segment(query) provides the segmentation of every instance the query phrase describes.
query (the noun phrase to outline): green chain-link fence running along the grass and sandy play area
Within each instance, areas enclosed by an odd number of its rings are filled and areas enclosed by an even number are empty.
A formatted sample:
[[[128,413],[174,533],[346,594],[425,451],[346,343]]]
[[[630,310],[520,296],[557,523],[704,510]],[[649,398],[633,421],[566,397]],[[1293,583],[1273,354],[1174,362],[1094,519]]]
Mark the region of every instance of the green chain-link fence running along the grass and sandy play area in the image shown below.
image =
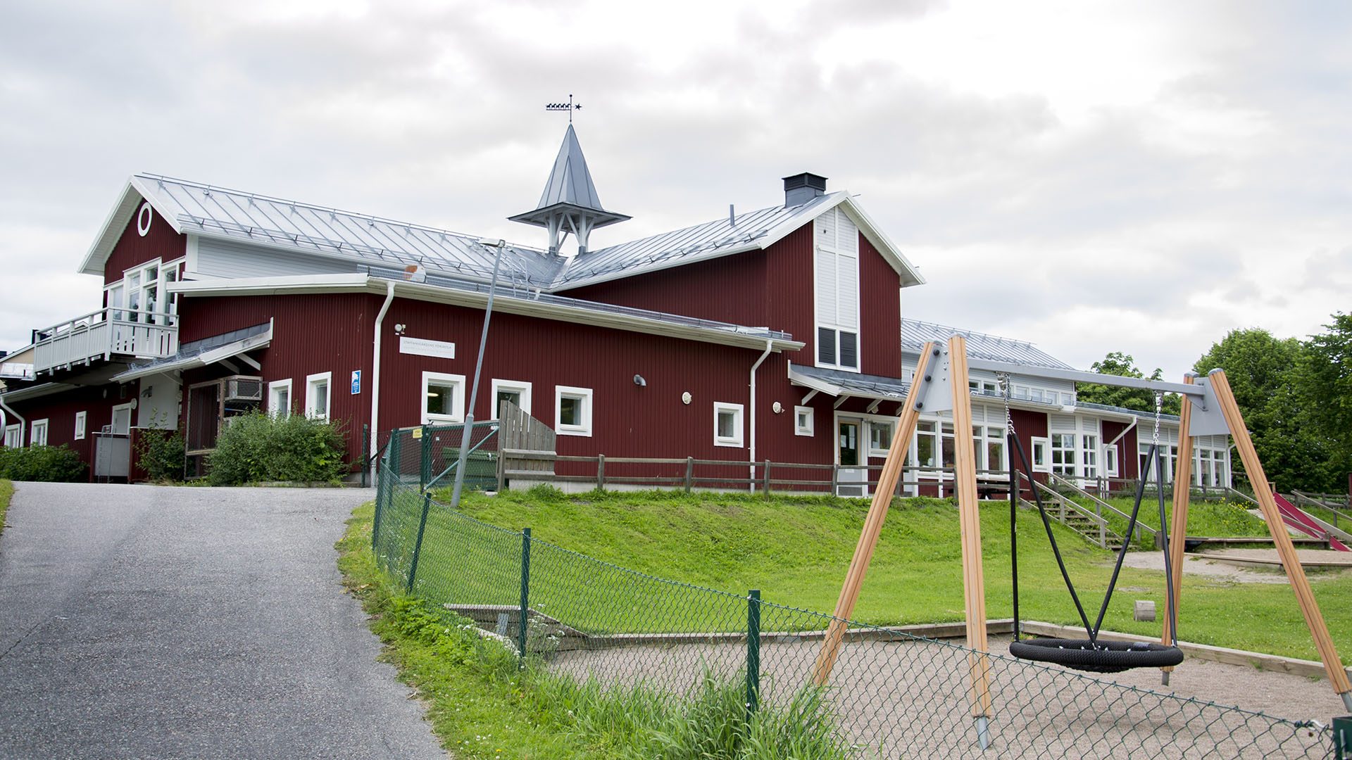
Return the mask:
[[[397,452],[396,452],[397,454]],[[397,456],[396,456],[396,460]],[[579,682],[688,696],[713,673],[746,682],[748,710],[821,695],[856,757],[1332,757],[1333,736],[1238,707],[986,655],[992,709],[977,744],[965,646],[850,623],[825,690],[814,663],[830,615],[653,577],[530,531],[476,521],[391,467],[377,488],[377,563],[411,594],[475,619]],[[526,625],[522,625],[526,621]]]

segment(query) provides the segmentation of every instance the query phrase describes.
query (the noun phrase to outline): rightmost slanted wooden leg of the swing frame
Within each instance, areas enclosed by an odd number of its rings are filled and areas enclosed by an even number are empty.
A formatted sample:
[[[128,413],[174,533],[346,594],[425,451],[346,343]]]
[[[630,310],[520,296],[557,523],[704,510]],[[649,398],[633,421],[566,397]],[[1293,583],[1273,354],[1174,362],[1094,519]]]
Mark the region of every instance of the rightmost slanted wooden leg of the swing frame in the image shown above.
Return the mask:
[[[1343,702],[1348,709],[1352,709],[1352,698],[1348,695],[1348,692],[1352,692],[1352,684],[1348,683],[1348,673],[1343,669],[1343,661],[1338,660],[1337,649],[1333,648],[1333,638],[1329,637],[1329,627],[1324,622],[1324,614],[1314,600],[1310,581],[1305,577],[1305,568],[1301,567],[1301,560],[1295,556],[1291,536],[1286,531],[1286,523],[1282,522],[1282,513],[1276,508],[1276,499],[1272,498],[1267,475],[1263,473],[1263,462],[1259,461],[1259,453],[1253,449],[1253,440],[1249,438],[1249,431],[1244,427],[1244,417],[1240,414],[1240,404],[1236,403],[1234,394],[1230,391],[1230,381],[1225,377],[1225,372],[1220,369],[1213,369],[1209,377],[1211,388],[1215,391],[1215,398],[1221,404],[1221,412],[1225,415],[1225,423],[1230,427],[1230,435],[1234,437],[1234,448],[1244,461],[1244,471],[1249,475],[1249,483],[1253,484],[1253,495],[1257,498],[1259,508],[1263,511],[1263,519],[1268,523],[1272,544],[1276,545],[1282,567],[1286,568],[1286,577],[1290,579],[1291,590],[1295,591],[1295,600],[1305,615],[1305,625],[1310,629],[1310,637],[1314,638],[1314,648],[1320,652],[1320,659],[1324,660],[1324,669],[1329,673],[1329,683],[1333,686],[1333,691],[1343,695]]]

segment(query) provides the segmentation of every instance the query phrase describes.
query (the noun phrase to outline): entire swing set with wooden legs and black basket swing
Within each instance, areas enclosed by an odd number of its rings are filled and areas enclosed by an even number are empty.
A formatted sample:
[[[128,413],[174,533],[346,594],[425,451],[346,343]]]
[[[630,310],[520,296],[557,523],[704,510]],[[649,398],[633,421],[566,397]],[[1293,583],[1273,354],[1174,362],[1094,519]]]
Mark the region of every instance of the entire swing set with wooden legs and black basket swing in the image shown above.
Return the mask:
[[[1159,453],[1159,426],[1160,406],[1163,394],[1179,394],[1187,403],[1183,404],[1179,426],[1179,452],[1175,467],[1175,483],[1187,484],[1192,479],[1192,438],[1197,435],[1214,435],[1228,433],[1234,438],[1244,469],[1253,484],[1255,498],[1267,522],[1272,542],[1276,546],[1282,567],[1286,569],[1291,588],[1295,591],[1297,603],[1305,615],[1306,627],[1314,640],[1314,646],[1324,663],[1324,669],[1329,676],[1333,691],[1343,698],[1344,706],[1352,710],[1352,684],[1348,682],[1347,671],[1333,646],[1329,629],[1324,622],[1310,590],[1310,581],[1305,576],[1287,534],[1286,525],[1278,511],[1276,500],[1272,496],[1267,476],[1263,473],[1263,464],[1259,461],[1253,441],[1244,427],[1244,418],[1240,407],[1234,402],[1229,380],[1225,372],[1211,371],[1201,377],[1188,375],[1183,383],[1164,383],[1159,380],[1142,380],[1136,377],[1118,377],[1113,375],[1094,375],[1071,369],[1037,368],[1040,376],[1082,383],[1099,383],[1105,385],[1118,385],[1126,388],[1145,388],[1155,392],[1155,440],[1146,454],[1142,467],[1142,477],[1137,484],[1136,500],[1132,507],[1128,523],[1126,538],[1118,552],[1117,563],[1113,567],[1113,576],[1109,580],[1103,603],[1099,607],[1098,618],[1090,622],[1080,603],[1079,594],[1071,583],[1069,573],[1061,560],[1060,548],[1052,533],[1051,519],[1042,506],[1037,488],[1033,488],[1038,514],[1046,529],[1046,536],[1052,546],[1052,553],[1060,567],[1061,577],[1065,581],[1075,609],[1084,625],[1086,638],[1019,638],[1018,617],[1018,544],[1014,530],[1014,515],[1018,508],[1019,471],[1014,465],[1017,453],[1022,464],[1023,476],[1032,484],[1028,456],[1022,444],[1014,434],[1013,418],[1009,412],[1009,376],[1025,371],[1023,366],[1011,362],[992,361],[983,358],[968,358],[967,339],[961,335],[949,338],[948,346],[926,343],[921,350],[919,362],[915,368],[915,377],[900,408],[896,422],[894,441],[910,441],[915,434],[915,425],[922,412],[950,411],[953,415],[953,430],[959,431],[953,437],[955,446],[955,492],[959,507],[959,526],[963,544],[963,590],[967,609],[967,646],[972,650],[968,655],[968,668],[972,694],[972,717],[976,719],[977,742],[986,749],[990,742],[990,717],[992,714],[990,692],[990,648],[986,640],[986,586],[982,575],[982,525],[977,510],[976,492],[976,454],[971,435],[961,434],[963,430],[972,429],[972,402],[968,391],[968,372],[971,369],[984,369],[995,372],[1000,379],[1005,396],[1006,435],[1010,452],[1010,561],[1013,568],[1013,598],[1014,598],[1014,641],[1010,644],[1010,655],[1025,660],[1053,663],[1068,668],[1091,672],[1121,672],[1132,668],[1160,668],[1161,680],[1169,683],[1169,671],[1183,661],[1183,652],[1178,648],[1176,621],[1179,594],[1183,583],[1183,537],[1187,536],[1187,508],[1188,488],[1174,488],[1174,515],[1165,527],[1164,508],[1164,464]],[[821,649],[813,669],[813,680],[818,686],[825,686],[831,675],[831,668],[840,656],[845,638],[846,621],[854,613],[854,603],[859,600],[864,575],[877,545],[877,537],[883,530],[887,518],[887,508],[891,504],[896,481],[900,476],[902,464],[907,446],[894,445],[883,464],[879,475],[877,490],[864,519],[864,529],[860,533],[859,544],[854,546],[854,556],[850,560],[849,571],[845,575],[845,584],[841,588],[840,599],[836,603],[836,614],[822,638]],[[1165,588],[1165,610],[1163,617],[1163,633],[1160,642],[1128,642],[1099,638],[1099,629],[1107,613],[1109,599],[1117,586],[1117,577],[1126,557],[1128,545],[1136,531],[1137,514],[1145,495],[1145,473],[1153,465],[1157,491],[1157,506],[1160,517],[1160,534],[1164,537],[1164,573],[1168,580]],[[1169,540],[1172,537],[1172,541]]]

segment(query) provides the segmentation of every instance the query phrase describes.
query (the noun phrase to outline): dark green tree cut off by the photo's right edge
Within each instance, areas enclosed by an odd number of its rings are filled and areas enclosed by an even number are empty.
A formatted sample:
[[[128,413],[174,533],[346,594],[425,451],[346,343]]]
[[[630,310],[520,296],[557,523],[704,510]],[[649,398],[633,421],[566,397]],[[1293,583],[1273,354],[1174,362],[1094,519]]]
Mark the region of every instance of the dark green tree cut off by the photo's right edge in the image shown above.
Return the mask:
[[[1352,314],[1334,312],[1328,333],[1305,342],[1295,373],[1295,402],[1306,410],[1305,434],[1325,454],[1318,491],[1343,491],[1352,472]]]

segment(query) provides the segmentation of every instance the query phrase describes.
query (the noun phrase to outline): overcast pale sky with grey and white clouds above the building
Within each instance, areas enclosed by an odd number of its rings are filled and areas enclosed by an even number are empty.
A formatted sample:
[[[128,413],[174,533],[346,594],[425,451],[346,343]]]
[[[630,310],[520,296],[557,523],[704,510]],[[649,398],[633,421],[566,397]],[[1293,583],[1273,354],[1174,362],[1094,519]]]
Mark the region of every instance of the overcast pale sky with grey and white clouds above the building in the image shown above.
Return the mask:
[[[849,189],[909,318],[1178,376],[1352,310],[1352,4],[9,1],[0,348],[154,172],[542,245],[575,93],[594,247]]]

